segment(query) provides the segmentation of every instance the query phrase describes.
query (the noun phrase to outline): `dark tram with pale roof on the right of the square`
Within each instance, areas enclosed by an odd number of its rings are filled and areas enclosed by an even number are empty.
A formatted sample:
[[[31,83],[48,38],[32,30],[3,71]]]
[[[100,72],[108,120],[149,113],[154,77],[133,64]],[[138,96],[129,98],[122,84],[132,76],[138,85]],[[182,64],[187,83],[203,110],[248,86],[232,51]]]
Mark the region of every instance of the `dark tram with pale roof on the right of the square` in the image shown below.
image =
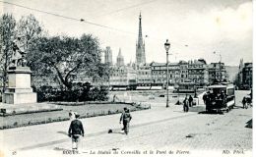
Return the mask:
[[[215,84],[208,86],[207,93],[203,96],[206,111],[228,112],[235,105],[234,85]]]

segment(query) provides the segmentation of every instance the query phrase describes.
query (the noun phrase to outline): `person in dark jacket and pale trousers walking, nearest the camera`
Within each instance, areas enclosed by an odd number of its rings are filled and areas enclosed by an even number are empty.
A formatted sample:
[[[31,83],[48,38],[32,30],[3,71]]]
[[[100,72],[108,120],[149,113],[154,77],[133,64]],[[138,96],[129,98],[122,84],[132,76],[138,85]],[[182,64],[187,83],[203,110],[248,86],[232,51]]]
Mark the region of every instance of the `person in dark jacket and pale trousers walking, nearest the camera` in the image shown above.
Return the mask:
[[[81,135],[84,136],[83,124],[78,120],[79,115],[75,113],[75,120],[70,124],[68,134],[72,138],[72,149],[78,150]]]

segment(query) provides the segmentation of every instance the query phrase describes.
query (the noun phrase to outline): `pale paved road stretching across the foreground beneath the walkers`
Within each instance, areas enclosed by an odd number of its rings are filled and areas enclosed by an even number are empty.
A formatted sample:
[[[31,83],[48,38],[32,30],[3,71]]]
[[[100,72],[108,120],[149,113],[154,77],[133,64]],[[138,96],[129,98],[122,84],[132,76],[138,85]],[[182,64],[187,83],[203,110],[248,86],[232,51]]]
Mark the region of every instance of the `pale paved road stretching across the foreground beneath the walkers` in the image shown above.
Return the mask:
[[[238,91],[237,100],[245,94],[246,91]],[[230,152],[243,150],[242,156],[251,156],[252,130],[245,126],[252,119],[252,108],[241,109],[237,100],[237,107],[224,115],[183,113],[182,106],[170,105],[166,109],[165,103],[155,102],[151,110],[132,113],[128,135],[120,131],[120,115],[83,119],[86,135],[81,142],[81,151],[117,148],[119,151],[162,150],[164,153],[163,150],[181,150],[189,152],[190,156],[214,151],[213,154],[222,156],[227,149]],[[40,151],[40,155],[49,151],[62,155],[63,150],[71,147],[70,138],[66,135],[69,123],[0,131],[4,134],[0,143],[5,143],[1,148],[8,155],[12,151],[31,154],[32,150]],[[107,133],[108,129],[115,129],[114,133]]]

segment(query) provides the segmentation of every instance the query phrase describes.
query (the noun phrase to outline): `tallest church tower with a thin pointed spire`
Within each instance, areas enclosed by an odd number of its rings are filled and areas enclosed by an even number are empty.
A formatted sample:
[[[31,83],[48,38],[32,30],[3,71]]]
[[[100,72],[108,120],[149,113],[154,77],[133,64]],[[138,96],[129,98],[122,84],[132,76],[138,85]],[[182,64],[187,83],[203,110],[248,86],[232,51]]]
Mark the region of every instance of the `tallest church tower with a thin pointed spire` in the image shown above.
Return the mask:
[[[138,42],[136,43],[136,64],[139,66],[145,63],[146,63],[145,42],[143,42],[143,37],[142,37],[142,15],[140,13],[139,36],[138,36]]]

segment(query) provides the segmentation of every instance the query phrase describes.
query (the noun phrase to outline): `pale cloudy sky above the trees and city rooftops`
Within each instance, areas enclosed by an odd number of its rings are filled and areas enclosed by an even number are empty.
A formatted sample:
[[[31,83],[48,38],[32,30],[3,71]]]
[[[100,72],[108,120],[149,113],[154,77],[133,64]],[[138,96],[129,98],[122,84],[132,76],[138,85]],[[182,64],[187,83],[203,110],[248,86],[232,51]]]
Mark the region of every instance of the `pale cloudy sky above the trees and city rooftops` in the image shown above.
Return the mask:
[[[111,47],[114,63],[119,48],[125,63],[135,62],[140,12],[147,63],[166,62],[166,39],[170,62],[199,58],[207,63],[222,58],[228,66],[238,66],[241,58],[252,62],[250,0],[0,0],[0,7],[1,14],[13,14],[17,20],[34,15],[51,36],[92,33],[102,48]]]

